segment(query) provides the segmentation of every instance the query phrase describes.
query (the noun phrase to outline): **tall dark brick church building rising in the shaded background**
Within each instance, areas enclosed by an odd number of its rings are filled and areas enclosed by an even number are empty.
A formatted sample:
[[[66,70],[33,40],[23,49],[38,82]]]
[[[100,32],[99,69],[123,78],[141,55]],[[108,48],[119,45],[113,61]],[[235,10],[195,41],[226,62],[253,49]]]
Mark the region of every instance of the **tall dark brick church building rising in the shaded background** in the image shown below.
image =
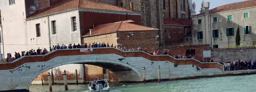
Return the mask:
[[[140,11],[141,24],[158,28],[160,46],[192,44],[190,14],[195,14],[192,0],[99,0],[133,11]]]

